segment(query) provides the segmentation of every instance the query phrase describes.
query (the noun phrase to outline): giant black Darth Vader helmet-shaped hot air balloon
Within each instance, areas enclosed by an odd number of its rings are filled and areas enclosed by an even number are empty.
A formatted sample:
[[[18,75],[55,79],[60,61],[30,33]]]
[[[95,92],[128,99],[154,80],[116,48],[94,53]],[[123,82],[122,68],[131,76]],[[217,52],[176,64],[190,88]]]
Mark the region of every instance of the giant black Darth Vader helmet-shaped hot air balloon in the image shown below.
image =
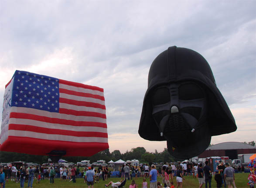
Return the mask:
[[[139,134],[167,141],[176,158],[191,158],[209,146],[211,136],[236,131],[212,70],[199,53],[169,47],[153,61],[143,101]]]

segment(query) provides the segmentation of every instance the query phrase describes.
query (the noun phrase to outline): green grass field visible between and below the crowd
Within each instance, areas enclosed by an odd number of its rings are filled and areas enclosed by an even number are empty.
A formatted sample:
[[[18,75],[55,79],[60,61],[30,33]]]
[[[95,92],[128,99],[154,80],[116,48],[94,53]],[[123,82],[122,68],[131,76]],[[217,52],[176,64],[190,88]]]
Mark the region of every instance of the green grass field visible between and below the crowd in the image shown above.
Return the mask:
[[[247,178],[248,178],[248,173],[239,173],[235,174],[235,182],[236,182],[236,187],[237,188],[249,188],[247,185]],[[135,179],[135,178],[134,178]],[[100,180],[99,183],[94,184],[94,188],[105,188],[104,184],[107,184],[109,181],[119,181],[120,178],[109,178],[107,181],[102,181]],[[87,188],[88,186],[86,183],[84,183],[83,178],[78,178],[76,179],[76,183],[73,182],[68,182],[68,181],[60,181],[60,179],[55,179],[54,184],[49,184],[49,180],[41,180],[40,184],[36,184],[36,180],[33,183],[33,188]],[[138,178],[137,180],[135,179],[136,183],[138,184],[138,188],[142,187],[142,181],[143,178]],[[148,183],[148,188],[149,188],[149,179],[146,180]],[[161,178],[157,178],[157,181],[161,182]],[[126,188],[129,188],[129,185],[131,183],[131,180],[126,181]],[[174,185],[176,188],[176,177],[174,178]],[[198,179],[193,178],[192,176],[185,176],[185,180],[183,181],[183,188],[197,188],[199,186],[198,184]],[[20,184],[15,183],[13,181],[8,181],[6,183],[6,188],[19,188]],[[24,187],[27,187],[27,183],[25,182]],[[224,186],[223,186],[224,187]],[[203,185],[203,188],[205,188],[205,185]],[[212,178],[212,188],[216,188],[216,181],[214,178]]]

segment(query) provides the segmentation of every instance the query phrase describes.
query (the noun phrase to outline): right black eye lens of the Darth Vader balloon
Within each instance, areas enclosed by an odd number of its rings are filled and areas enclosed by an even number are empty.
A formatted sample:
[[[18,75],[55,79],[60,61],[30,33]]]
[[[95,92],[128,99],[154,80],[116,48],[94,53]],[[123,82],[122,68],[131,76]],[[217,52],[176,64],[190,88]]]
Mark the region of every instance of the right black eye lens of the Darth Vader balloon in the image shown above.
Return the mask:
[[[194,83],[185,83],[179,87],[179,99],[193,100],[204,98],[202,89]]]

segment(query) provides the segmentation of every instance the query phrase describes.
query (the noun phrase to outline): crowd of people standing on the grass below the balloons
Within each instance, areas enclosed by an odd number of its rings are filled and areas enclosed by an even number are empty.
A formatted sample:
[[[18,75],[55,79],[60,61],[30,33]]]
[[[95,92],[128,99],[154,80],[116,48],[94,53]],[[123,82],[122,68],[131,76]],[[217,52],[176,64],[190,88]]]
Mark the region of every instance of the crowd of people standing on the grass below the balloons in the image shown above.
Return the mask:
[[[199,188],[202,188],[205,184],[205,188],[211,188],[212,178],[216,181],[217,188],[236,188],[235,184],[235,171],[229,163],[220,161],[219,165],[212,172],[208,161],[204,164],[191,163],[191,162],[179,162],[174,165],[164,164],[156,168],[156,165],[141,164],[140,166],[131,166],[129,164],[120,167],[120,181],[105,184],[108,188],[110,185],[112,187],[118,187],[125,180],[132,180],[129,188],[137,188],[136,180],[139,177],[143,177],[142,188],[174,188],[174,180],[176,179],[177,188],[182,188],[182,182],[186,176],[192,176],[193,178],[198,178]],[[33,182],[40,183],[42,179],[49,180],[49,183],[54,183],[54,179],[57,178],[57,173],[60,175],[61,181],[72,181],[76,182],[78,176],[84,178],[84,183],[88,187],[92,187],[99,179],[107,181],[111,175],[107,166],[99,166],[97,169],[92,167],[85,167],[82,172],[79,168],[75,166],[70,167],[60,167],[56,166],[44,167],[44,166],[1,166],[0,168],[0,188],[5,188],[6,181],[13,181],[20,183],[20,187],[24,188],[25,182],[27,187],[32,187]],[[176,178],[174,178],[176,176]],[[162,182],[157,181],[157,177],[162,178]],[[134,178],[134,179],[133,179]],[[147,185],[147,179],[149,178],[150,185]],[[254,188],[255,177],[248,177],[248,185],[250,188]],[[125,182],[124,182],[125,183]]]

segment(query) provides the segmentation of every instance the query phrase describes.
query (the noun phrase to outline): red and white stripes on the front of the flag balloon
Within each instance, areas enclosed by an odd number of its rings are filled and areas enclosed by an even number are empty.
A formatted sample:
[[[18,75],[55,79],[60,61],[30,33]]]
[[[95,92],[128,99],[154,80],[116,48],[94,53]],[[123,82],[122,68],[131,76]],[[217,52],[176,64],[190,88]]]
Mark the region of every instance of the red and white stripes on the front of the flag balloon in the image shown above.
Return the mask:
[[[108,143],[103,89],[59,80],[59,92],[59,112],[11,107],[8,136]]]

